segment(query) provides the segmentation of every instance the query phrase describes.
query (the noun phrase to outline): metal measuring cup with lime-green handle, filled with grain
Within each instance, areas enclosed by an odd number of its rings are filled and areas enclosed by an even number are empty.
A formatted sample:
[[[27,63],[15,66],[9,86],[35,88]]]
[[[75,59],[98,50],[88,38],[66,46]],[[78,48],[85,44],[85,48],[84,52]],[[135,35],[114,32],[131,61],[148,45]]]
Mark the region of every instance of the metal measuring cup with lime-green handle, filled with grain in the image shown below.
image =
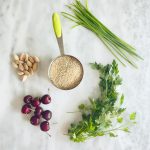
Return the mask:
[[[52,20],[61,55],[50,63],[48,76],[55,87],[71,90],[80,84],[84,74],[83,66],[74,56],[64,54],[62,27],[58,13],[53,14]]]

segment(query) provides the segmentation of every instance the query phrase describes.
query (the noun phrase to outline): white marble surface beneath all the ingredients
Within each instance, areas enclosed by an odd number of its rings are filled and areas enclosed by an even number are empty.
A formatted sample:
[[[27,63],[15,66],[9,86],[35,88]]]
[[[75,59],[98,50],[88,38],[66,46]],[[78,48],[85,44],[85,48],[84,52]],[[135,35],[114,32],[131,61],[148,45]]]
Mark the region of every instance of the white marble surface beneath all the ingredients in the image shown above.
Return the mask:
[[[71,30],[71,23],[62,18],[65,50],[78,57],[85,75],[79,87],[61,91],[47,78],[50,60],[59,55],[51,15],[63,11],[66,0],[0,0],[0,150],[150,150],[150,0],[95,0],[90,9],[112,31],[137,48],[144,61],[139,69],[124,68],[121,92],[125,94],[127,113],[136,111],[138,124],[131,134],[120,133],[115,139],[100,137],[85,143],[71,142],[63,134],[77,114],[78,104],[97,95],[98,75],[89,62],[111,63],[113,57],[102,43],[87,30]],[[40,56],[40,71],[21,83],[12,69],[12,53],[29,52]],[[20,113],[25,94],[40,95],[50,88],[53,111],[52,138],[29,124]]]

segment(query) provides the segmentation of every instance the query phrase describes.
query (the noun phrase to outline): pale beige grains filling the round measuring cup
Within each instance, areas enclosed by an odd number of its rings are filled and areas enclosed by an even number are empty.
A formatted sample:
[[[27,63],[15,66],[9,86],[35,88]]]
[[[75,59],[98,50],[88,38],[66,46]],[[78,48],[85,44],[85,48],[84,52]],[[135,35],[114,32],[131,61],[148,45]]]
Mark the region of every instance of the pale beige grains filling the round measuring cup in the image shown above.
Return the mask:
[[[82,80],[83,68],[76,58],[65,55],[52,62],[49,75],[56,87],[66,90],[72,89]]]

